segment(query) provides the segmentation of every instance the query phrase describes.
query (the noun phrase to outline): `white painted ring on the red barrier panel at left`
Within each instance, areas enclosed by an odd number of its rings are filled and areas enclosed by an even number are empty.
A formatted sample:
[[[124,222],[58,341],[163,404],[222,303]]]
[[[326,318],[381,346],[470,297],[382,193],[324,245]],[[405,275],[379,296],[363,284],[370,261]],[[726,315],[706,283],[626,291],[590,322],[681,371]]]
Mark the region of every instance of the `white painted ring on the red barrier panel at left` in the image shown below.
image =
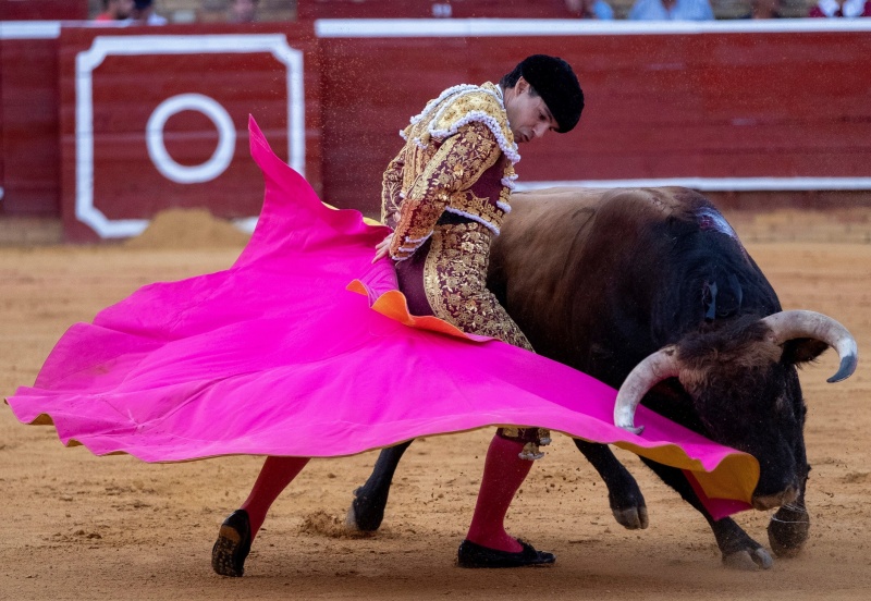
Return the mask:
[[[209,160],[197,165],[177,163],[163,144],[163,127],[167,120],[181,111],[199,111],[214,123],[218,130],[218,147]],[[180,184],[201,184],[223,173],[233,160],[236,149],[236,128],[226,110],[213,98],[201,94],[180,94],[167,98],[155,109],[145,126],[145,143],[148,156],[160,173]]]

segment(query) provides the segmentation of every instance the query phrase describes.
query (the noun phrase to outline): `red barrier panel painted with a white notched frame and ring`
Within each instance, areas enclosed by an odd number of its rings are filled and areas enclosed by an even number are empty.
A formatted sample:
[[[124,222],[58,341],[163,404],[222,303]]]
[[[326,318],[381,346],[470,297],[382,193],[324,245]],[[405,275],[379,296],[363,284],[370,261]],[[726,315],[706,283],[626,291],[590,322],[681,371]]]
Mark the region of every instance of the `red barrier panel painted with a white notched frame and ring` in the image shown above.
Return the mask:
[[[285,51],[302,53],[295,72],[281,56]],[[262,179],[248,152],[249,113],[279,157],[304,170],[318,189],[316,59],[310,24],[263,24],[244,32],[231,26],[64,28],[60,89],[68,236],[93,240],[96,229],[102,237],[123,237],[130,235],[126,220],[148,219],[168,206],[205,205],[223,218],[256,217]],[[300,86],[295,100],[289,73]],[[149,132],[157,132],[150,143]],[[222,144],[229,152],[223,161]],[[87,170],[90,191],[83,189]],[[102,218],[110,223],[95,228]]]

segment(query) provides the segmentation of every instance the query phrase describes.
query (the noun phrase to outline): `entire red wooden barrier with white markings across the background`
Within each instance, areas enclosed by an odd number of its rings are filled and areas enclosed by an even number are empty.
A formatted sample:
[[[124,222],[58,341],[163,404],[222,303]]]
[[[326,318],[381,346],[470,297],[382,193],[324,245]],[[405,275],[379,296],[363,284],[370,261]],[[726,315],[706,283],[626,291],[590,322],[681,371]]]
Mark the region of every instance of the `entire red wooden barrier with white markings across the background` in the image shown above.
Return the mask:
[[[131,235],[170,206],[254,217],[249,112],[327,201],[375,214],[408,119],[535,52],[575,65],[587,109],[576,131],[522,145],[523,185],[868,191],[871,23],[822,21],[42,24],[29,38],[4,24],[0,217],[62,214],[76,241]]]

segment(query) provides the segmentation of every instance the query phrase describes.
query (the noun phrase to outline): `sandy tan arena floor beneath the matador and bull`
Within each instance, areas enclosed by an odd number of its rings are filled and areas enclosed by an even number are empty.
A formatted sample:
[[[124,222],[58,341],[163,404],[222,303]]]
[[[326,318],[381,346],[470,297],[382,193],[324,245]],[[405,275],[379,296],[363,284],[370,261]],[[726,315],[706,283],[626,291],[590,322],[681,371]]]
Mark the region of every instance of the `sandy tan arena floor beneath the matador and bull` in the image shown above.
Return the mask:
[[[784,307],[835,317],[866,356],[869,212],[729,216]],[[0,248],[0,392],[33,383],[74,321],[139,285],[228,267],[242,242],[197,219],[182,235],[156,224],[126,246]],[[185,231],[199,233],[191,241]],[[0,407],[0,599],[871,599],[871,370],[860,361],[851,379],[826,384],[835,367],[830,352],[801,375],[811,538],[798,559],[756,573],[722,567],[704,520],[621,452],[651,520],[647,530],[624,530],[603,485],[564,437],[536,465],[508,516],[512,532],[555,552],[556,565],[455,567],[491,437],[479,431],[416,442],[396,475],[384,527],[369,538],[346,537],[339,522],[375,453],[314,461],[275,504],[246,576],[222,578],[210,568],[211,544],[259,458],[97,458]],[[768,544],[768,518],[746,513],[738,522]]]

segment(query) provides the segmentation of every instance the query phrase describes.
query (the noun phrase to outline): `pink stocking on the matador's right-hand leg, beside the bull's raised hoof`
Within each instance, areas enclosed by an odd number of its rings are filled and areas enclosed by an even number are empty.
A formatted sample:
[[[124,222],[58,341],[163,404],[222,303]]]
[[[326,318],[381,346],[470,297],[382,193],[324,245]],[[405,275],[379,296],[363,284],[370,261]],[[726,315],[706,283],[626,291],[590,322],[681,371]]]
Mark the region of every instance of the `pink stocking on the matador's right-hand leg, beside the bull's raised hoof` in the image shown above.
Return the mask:
[[[504,520],[517,489],[532,467],[532,462],[518,457],[524,443],[493,437],[487,450],[481,489],[471,518],[468,540],[481,547],[516,553],[523,548],[505,531]]]

